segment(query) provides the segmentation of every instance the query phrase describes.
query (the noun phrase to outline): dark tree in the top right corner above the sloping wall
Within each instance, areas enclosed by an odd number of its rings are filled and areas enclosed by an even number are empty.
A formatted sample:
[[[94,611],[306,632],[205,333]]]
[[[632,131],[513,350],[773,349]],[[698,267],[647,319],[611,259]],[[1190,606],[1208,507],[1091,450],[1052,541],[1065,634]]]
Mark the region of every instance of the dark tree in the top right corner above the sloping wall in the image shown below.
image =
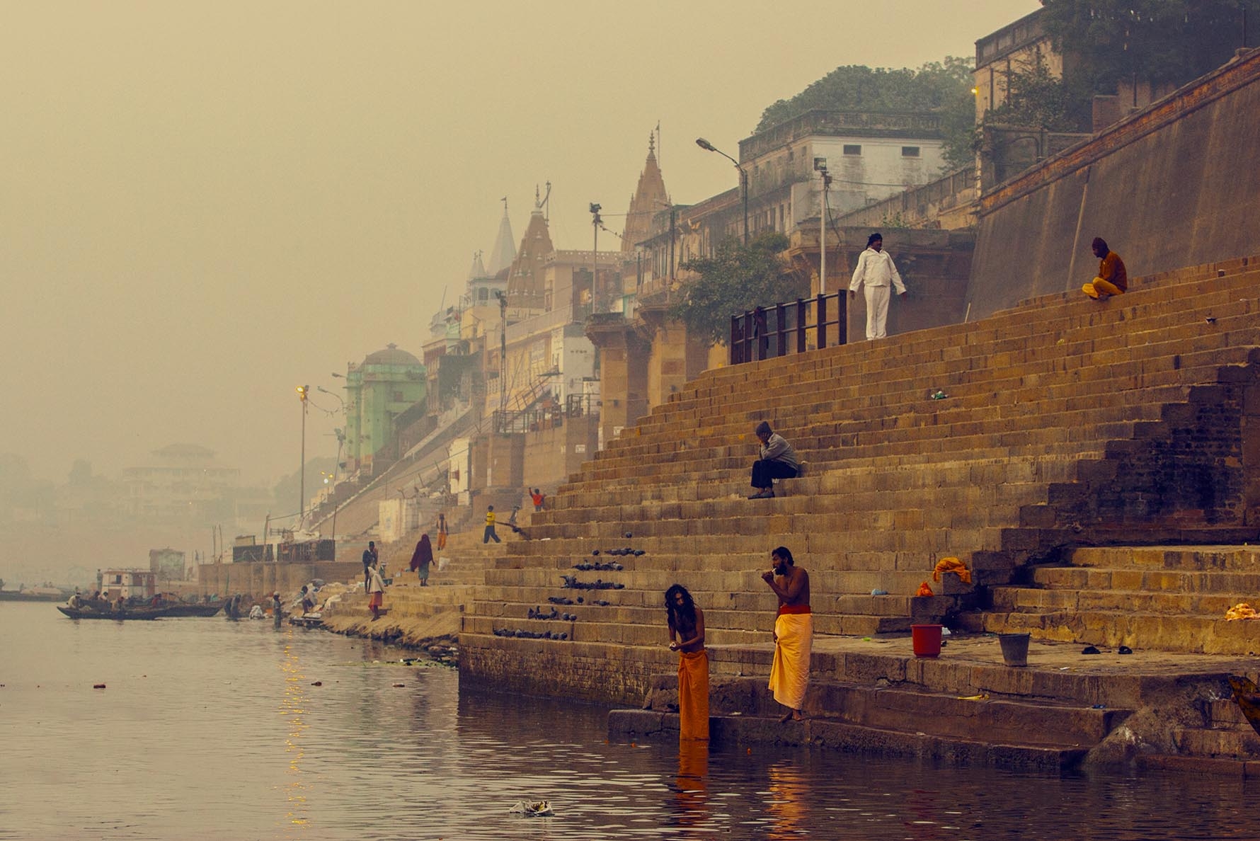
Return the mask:
[[[1255,0],[1042,0],[1051,40],[1089,93],[1184,84],[1230,59]]]

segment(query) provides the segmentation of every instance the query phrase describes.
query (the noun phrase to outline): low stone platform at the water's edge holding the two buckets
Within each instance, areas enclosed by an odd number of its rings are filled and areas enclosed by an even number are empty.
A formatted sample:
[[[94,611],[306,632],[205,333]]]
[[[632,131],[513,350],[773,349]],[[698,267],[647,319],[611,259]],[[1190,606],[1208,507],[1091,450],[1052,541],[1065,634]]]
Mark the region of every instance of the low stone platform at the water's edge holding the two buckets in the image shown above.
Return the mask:
[[[711,738],[1037,772],[1131,760],[1169,767],[1193,746],[1200,770],[1260,770],[1241,758],[1256,755],[1260,736],[1226,683],[1254,675],[1252,658],[1081,651],[1033,641],[1028,666],[1016,668],[992,634],[946,637],[939,658],[915,657],[908,635],[824,637],[814,644],[806,721],[780,722],[765,677],[774,646],[714,646]],[[646,709],[612,711],[609,733],[677,739],[677,677],[655,678]]]

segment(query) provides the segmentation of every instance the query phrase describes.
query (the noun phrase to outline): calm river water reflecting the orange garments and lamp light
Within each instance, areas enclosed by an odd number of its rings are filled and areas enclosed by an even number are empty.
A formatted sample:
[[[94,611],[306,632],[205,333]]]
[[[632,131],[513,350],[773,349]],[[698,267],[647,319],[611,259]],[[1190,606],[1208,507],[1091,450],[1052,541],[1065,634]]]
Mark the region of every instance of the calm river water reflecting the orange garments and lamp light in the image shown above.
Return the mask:
[[[609,743],[596,706],[460,692],[270,622],[0,604],[0,838],[1260,838],[1260,786]],[[93,688],[105,683],[105,688]],[[554,817],[518,817],[547,798]]]

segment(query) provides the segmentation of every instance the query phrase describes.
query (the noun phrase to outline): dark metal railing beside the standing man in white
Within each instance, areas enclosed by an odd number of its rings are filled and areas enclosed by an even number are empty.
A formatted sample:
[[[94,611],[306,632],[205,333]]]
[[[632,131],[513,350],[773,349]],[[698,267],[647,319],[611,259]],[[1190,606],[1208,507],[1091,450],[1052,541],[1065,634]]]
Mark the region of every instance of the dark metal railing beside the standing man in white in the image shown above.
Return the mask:
[[[828,315],[830,308],[835,310],[834,318]],[[834,330],[830,329],[833,327]],[[809,342],[810,333],[814,337],[813,347]],[[834,344],[848,340],[848,298],[844,290],[815,298],[798,298],[793,304],[759,306],[745,310],[742,315],[732,315],[731,364],[825,348],[830,339],[834,339]]]

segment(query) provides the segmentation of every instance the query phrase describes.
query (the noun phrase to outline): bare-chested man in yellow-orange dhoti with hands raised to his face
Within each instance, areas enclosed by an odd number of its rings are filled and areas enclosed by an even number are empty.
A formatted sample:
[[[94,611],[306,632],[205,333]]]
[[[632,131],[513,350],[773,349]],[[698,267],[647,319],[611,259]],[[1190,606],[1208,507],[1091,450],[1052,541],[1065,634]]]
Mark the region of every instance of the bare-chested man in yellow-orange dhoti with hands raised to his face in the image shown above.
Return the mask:
[[[809,610],[809,574],[795,565],[786,546],[770,554],[774,569],[761,579],[779,596],[775,617],[775,659],[770,666],[770,688],[788,707],[780,721],[801,721],[805,690],[809,687],[809,654],[814,642],[814,618]]]

